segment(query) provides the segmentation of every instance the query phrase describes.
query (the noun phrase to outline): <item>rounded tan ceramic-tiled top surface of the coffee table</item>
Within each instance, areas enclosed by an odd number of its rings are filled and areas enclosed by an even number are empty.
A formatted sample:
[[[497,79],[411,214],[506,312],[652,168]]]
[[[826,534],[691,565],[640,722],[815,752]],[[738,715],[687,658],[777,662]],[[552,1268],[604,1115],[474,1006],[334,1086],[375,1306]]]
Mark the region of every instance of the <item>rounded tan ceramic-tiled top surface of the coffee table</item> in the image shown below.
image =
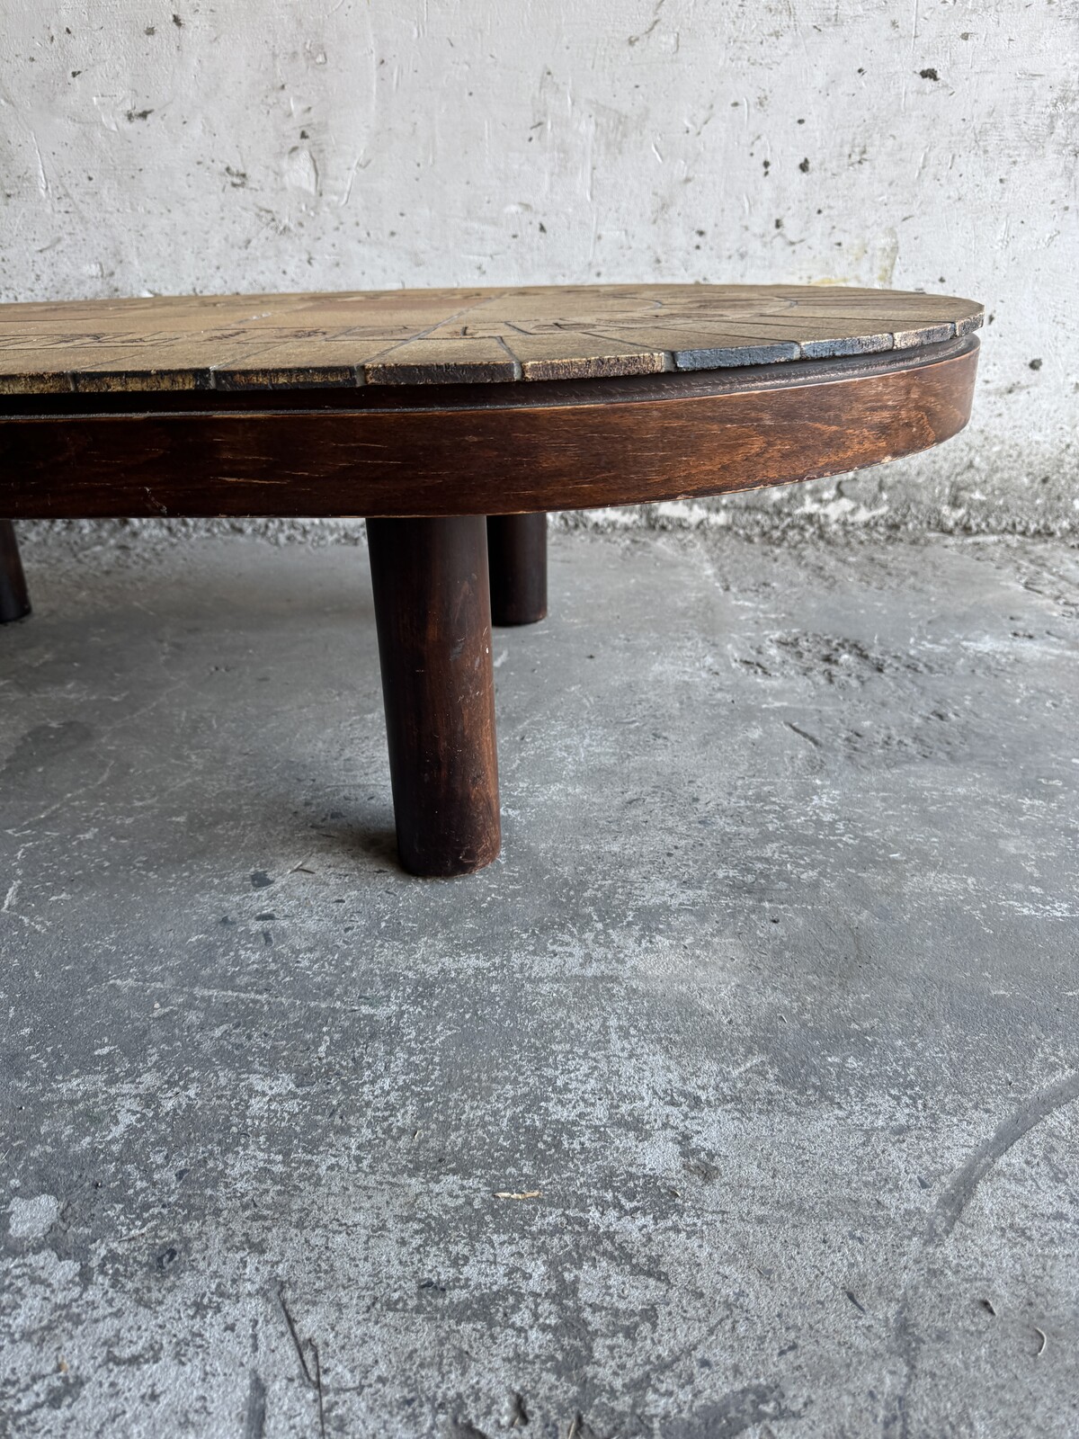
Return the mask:
[[[911,350],[977,330],[950,295],[573,285],[0,305],[0,394],[603,380]]]

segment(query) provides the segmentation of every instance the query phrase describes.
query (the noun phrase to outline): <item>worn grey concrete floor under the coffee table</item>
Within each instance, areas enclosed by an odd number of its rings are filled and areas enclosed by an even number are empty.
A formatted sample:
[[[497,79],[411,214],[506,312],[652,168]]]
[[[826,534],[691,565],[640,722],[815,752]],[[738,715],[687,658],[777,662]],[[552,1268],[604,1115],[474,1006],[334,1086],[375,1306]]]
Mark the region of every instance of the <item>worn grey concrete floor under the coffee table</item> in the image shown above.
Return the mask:
[[[1079,1430],[1079,553],[555,537],[452,882],[361,550],[26,560],[1,1433]]]

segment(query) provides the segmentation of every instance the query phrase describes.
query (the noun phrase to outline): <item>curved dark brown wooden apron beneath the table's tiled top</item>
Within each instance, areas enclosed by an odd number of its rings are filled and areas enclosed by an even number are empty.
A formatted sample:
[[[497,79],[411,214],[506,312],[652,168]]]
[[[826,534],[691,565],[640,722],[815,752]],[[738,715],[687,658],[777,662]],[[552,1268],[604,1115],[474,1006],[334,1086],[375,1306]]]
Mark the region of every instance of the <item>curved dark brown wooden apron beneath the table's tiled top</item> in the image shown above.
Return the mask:
[[[0,512],[512,514],[715,495],[928,449],[970,417],[977,340],[708,374],[168,397],[0,413]],[[96,403],[95,397],[95,403]],[[184,407],[180,407],[180,406]],[[22,409],[20,409],[22,406]],[[62,406],[75,413],[63,413]]]

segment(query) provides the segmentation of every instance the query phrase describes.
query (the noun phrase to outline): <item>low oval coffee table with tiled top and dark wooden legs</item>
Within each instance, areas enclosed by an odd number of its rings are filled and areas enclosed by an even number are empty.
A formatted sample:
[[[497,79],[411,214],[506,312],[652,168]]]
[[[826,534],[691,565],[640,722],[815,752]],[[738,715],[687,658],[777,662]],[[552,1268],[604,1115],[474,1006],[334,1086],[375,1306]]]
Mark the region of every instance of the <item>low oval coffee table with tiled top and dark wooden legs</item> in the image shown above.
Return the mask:
[[[981,307],[788,285],[151,296],[0,307],[10,519],[367,519],[397,845],[499,850],[493,617],[545,613],[545,512],[718,495],[928,449]]]

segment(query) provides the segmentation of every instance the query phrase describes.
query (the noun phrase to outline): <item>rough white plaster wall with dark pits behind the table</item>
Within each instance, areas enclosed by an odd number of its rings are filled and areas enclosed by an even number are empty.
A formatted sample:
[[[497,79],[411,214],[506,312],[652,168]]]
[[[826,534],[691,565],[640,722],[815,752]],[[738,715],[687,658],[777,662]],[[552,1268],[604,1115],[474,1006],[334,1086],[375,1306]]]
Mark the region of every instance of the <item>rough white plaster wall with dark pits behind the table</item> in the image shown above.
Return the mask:
[[[6,0],[0,298],[941,288],[971,430],[719,518],[1079,527],[1075,4],[173,3]]]

